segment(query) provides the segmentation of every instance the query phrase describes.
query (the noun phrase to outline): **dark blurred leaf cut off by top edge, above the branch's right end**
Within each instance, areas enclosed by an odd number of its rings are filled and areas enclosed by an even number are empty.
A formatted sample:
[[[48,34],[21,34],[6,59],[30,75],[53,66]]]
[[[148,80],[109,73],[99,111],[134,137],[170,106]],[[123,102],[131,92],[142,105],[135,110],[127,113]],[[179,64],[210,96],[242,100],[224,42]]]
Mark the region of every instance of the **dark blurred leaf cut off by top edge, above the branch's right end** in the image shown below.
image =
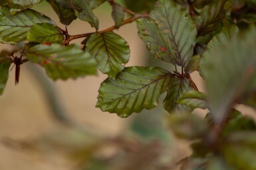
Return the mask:
[[[126,7],[134,12],[147,11],[150,12],[156,0],[124,0]]]

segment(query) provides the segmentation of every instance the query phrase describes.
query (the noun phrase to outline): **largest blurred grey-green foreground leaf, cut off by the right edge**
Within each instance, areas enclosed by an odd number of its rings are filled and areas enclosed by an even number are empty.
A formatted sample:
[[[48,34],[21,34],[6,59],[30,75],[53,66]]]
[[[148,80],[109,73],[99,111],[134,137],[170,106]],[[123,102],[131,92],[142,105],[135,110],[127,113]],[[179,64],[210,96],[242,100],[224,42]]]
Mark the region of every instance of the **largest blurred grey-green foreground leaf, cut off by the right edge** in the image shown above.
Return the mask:
[[[243,38],[236,36],[219,48],[202,69],[205,77],[209,108],[215,122],[223,120],[227,111],[240,97],[256,88],[256,29]]]

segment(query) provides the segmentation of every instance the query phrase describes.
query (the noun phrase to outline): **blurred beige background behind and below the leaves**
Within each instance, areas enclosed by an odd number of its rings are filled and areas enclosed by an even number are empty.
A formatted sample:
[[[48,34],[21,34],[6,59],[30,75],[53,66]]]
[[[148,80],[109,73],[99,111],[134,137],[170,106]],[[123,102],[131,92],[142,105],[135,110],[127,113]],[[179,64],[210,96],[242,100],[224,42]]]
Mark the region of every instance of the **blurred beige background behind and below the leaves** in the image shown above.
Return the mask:
[[[34,9],[64,29],[48,3],[43,1]],[[111,11],[108,3],[94,10],[100,21],[99,30],[114,25]],[[71,35],[93,31],[79,19],[68,26]],[[135,22],[114,32],[130,45],[130,62],[126,66],[161,65],[170,69],[170,65],[148,54]],[[71,43],[74,42],[82,39]],[[0,44],[0,50],[11,48]],[[192,78],[203,91],[199,75],[193,73]],[[129,118],[95,108],[104,79],[106,75],[98,72],[96,77],[53,82],[43,69],[28,62],[21,65],[20,81],[15,86],[13,69],[0,97],[0,170],[167,170],[174,169],[180,159],[190,154],[187,143],[174,138],[166,127],[168,113],[162,103]],[[195,112],[204,115],[206,111]]]

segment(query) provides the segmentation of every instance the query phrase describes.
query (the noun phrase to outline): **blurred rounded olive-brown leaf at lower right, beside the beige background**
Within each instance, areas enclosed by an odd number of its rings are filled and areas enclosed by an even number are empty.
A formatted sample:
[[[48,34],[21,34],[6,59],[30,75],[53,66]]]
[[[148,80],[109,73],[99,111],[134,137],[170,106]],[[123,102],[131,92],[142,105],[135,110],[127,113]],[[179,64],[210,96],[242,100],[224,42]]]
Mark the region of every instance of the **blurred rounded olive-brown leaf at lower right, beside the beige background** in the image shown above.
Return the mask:
[[[195,114],[177,113],[170,115],[170,126],[179,138],[194,140],[207,132],[207,124]]]

